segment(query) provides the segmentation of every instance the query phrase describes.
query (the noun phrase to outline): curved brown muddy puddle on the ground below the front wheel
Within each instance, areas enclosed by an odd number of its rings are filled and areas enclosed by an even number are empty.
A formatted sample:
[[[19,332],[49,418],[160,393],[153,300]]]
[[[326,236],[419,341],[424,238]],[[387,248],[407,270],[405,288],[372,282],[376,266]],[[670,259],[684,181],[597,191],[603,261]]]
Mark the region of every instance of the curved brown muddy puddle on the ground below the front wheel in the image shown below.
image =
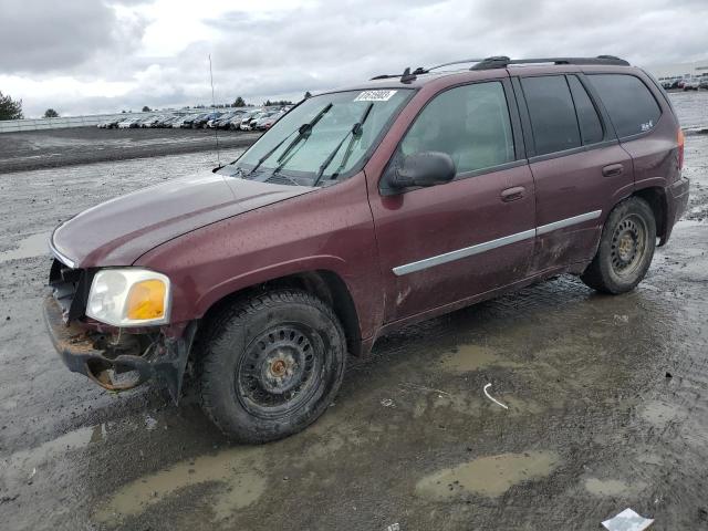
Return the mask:
[[[220,482],[222,488],[210,503],[216,519],[223,520],[266,492],[267,478],[259,471],[263,452],[260,447],[237,447],[179,462],[125,485],[94,516],[100,522],[107,522],[116,517],[140,514],[180,489]]]

